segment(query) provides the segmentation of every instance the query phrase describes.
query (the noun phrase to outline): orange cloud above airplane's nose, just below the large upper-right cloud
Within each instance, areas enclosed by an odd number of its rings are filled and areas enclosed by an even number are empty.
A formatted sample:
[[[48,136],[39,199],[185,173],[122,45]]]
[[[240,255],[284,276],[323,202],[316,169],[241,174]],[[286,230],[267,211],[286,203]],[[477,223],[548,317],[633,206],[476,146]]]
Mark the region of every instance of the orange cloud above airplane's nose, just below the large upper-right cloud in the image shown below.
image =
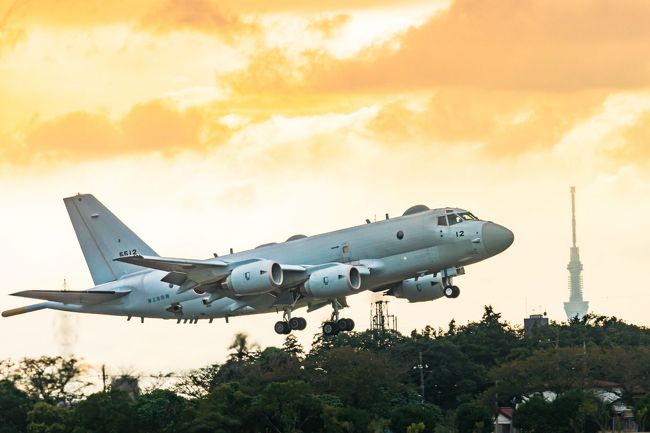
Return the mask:
[[[601,109],[603,92],[539,94],[442,89],[420,106],[386,104],[367,125],[378,139],[409,145],[468,143],[490,157],[545,151]]]

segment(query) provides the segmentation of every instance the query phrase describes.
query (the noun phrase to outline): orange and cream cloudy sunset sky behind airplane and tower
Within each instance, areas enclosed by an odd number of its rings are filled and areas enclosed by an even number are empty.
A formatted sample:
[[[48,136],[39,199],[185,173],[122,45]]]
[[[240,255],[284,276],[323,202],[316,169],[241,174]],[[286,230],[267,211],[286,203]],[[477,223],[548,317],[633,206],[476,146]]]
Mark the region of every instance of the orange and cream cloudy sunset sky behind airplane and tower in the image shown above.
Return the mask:
[[[648,23],[643,1],[0,0],[0,309],[92,286],[61,201],[87,192],[187,258],[463,207],[515,243],[456,300],[391,302],[399,329],[486,304],[564,320],[576,185],[590,310],[650,325]],[[370,300],[346,311],[361,329]],[[60,315],[0,319],[0,359],[60,353]],[[114,369],[283,340],[275,315],[72,320],[75,353]]]

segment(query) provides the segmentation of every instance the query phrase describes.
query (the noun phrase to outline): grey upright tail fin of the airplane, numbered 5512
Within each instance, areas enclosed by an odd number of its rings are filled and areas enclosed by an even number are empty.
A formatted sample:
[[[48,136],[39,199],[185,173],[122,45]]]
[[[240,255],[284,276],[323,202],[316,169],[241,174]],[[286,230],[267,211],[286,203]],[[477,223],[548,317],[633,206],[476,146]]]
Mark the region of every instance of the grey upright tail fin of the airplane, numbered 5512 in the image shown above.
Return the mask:
[[[158,255],[91,194],[78,194],[64,198],[63,202],[95,285],[142,270],[139,266],[115,262],[115,258]]]

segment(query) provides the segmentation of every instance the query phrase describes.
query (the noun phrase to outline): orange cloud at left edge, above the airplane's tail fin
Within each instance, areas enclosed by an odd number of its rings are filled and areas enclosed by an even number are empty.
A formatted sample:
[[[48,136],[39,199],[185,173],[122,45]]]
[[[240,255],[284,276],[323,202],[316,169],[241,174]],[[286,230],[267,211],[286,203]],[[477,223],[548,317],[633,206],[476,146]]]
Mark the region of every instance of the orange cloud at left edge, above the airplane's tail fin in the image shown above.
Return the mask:
[[[35,121],[23,137],[5,137],[4,163],[57,164],[125,155],[173,156],[223,143],[232,129],[210,119],[208,108],[178,110],[166,101],[136,104],[121,119],[77,111]]]

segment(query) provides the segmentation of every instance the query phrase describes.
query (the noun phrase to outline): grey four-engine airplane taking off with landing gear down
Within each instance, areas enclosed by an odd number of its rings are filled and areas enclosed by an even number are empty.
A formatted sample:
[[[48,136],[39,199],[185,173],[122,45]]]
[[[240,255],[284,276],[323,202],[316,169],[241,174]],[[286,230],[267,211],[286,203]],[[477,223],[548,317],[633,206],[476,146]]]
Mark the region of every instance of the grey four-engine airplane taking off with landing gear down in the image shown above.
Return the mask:
[[[354,329],[339,317],[347,297],[365,291],[409,302],[457,298],[465,266],[506,250],[513,233],[459,208],[409,208],[400,217],[205,259],[160,257],[90,194],[64,200],[95,286],[88,290],[26,290],[14,296],[45,302],[3,317],[53,309],[77,313],[175,319],[177,323],[282,312],[278,334],[305,329],[294,310],[331,306],[323,334]]]

